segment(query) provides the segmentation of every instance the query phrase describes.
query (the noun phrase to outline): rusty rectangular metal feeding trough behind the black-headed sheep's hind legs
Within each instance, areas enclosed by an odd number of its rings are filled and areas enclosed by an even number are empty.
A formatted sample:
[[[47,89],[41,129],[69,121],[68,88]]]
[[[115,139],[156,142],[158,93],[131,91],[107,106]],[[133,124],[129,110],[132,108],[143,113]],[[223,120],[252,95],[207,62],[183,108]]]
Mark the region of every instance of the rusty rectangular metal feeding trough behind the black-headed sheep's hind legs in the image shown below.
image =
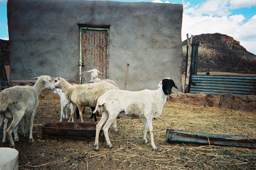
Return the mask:
[[[42,138],[48,136],[66,136],[66,137],[95,137],[97,123],[81,122],[50,122],[42,126]],[[103,131],[100,129],[102,139]]]

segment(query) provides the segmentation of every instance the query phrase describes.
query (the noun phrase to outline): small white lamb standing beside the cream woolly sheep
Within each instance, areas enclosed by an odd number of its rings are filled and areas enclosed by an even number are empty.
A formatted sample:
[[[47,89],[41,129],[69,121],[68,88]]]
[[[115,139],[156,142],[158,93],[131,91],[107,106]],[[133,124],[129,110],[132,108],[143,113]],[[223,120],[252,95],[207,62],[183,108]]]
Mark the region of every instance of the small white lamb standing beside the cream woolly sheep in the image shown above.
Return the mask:
[[[70,109],[70,113],[73,111],[73,105],[68,101],[66,98],[64,92],[61,89],[55,89],[53,91],[54,94],[58,94],[60,96],[60,122],[62,121],[62,117],[64,120],[68,119],[68,109]],[[63,110],[65,109],[66,112],[66,118],[65,115],[63,114]],[[72,122],[74,122],[74,117],[72,117]]]

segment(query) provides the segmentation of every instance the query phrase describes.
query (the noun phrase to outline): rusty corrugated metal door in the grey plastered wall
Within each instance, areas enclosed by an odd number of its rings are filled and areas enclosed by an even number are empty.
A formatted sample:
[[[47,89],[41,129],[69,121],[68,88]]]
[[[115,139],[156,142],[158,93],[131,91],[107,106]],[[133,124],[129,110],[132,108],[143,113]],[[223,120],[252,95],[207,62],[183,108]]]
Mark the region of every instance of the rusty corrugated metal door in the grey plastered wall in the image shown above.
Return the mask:
[[[108,66],[108,30],[81,29],[82,75],[81,82],[91,80],[88,70],[97,69],[100,79],[106,79]]]

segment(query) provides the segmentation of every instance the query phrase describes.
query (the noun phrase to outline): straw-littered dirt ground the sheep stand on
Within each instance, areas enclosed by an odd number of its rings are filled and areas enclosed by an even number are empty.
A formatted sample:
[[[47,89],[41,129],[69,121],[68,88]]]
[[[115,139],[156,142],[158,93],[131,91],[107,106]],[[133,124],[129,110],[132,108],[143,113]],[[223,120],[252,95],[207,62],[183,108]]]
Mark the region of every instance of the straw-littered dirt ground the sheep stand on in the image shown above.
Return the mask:
[[[165,139],[165,131],[170,128],[230,135],[241,132],[255,139],[256,112],[218,108],[213,111],[212,107],[166,103],[162,115],[153,121],[158,152],[152,151],[149,132],[149,144],[142,144],[143,119],[117,119],[119,131],[114,132],[112,126],[109,129],[113,148],[107,148],[100,138],[100,151],[94,152],[93,138],[46,136],[46,140],[41,139],[41,126],[60,120],[59,102],[39,100],[33,128],[34,143],[29,143],[28,137],[22,137],[19,132],[20,141],[15,143],[19,151],[19,169],[256,169],[256,149],[169,144]],[[84,121],[93,122],[89,108],[85,112]],[[227,118],[222,119],[222,116]],[[75,122],[80,119],[75,118]],[[0,147],[8,146],[9,143],[0,143]]]

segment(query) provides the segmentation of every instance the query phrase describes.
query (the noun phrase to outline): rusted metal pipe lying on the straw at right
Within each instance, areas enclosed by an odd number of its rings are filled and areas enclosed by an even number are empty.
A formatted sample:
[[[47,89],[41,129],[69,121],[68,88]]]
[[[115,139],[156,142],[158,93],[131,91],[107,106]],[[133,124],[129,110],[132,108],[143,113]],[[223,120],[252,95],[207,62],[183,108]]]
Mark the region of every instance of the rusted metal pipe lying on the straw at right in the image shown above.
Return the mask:
[[[168,143],[190,143],[190,144],[210,144],[220,146],[235,146],[245,148],[256,148],[255,139],[226,139],[208,136],[190,135],[174,132],[174,129],[166,129],[166,141]]]

